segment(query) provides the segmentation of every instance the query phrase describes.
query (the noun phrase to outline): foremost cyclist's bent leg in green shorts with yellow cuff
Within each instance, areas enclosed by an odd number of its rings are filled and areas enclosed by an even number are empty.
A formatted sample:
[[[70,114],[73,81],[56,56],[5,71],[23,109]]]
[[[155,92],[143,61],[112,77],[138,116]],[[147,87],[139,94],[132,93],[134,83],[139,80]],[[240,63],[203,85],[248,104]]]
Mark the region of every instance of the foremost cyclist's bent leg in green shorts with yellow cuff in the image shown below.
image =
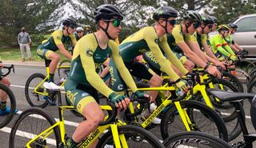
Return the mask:
[[[70,80],[67,80],[65,84],[66,96],[70,99],[70,103],[86,117],[86,120],[78,125],[72,138],[67,142],[73,145],[82,142],[97,129],[98,122],[102,122],[104,119],[104,114],[95,99],[86,91],[78,90],[77,86],[78,84]]]

